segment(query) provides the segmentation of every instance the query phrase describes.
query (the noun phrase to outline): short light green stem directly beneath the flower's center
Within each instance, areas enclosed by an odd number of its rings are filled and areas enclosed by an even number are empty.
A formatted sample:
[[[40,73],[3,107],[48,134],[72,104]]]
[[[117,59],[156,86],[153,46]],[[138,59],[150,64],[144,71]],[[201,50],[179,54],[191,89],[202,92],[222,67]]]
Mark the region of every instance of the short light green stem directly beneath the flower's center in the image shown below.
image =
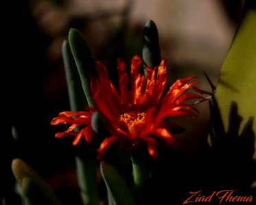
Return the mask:
[[[143,152],[140,151],[132,152],[131,154],[135,197],[146,192],[151,175],[150,163],[147,157],[143,155]]]

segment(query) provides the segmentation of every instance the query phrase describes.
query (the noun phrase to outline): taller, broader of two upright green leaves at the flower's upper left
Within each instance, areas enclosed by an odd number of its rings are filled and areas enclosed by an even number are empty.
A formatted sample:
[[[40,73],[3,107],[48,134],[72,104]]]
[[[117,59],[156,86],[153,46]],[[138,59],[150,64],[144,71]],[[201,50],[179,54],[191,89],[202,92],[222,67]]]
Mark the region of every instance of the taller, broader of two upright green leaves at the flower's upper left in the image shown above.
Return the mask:
[[[86,100],[88,105],[93,107],[94,102],[91,97],[89,74],[95,72],[96,61],[91,53],[89,44],[77,29],[72,28],[69,30],[69,45],[73,58],[75,59],[75,65],[80,74]]]

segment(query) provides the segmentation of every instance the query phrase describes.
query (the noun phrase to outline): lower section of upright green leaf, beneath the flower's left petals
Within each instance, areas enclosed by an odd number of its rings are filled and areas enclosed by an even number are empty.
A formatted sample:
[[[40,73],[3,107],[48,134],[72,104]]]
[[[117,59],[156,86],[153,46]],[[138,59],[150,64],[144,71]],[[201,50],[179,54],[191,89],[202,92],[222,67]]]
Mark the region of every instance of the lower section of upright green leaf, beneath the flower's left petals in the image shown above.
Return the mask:
[[[78,184],[84,205],[100,204],[100,196],[97,190],[96,161],[91,154],[80,157],[75,156],[78,172]]]

